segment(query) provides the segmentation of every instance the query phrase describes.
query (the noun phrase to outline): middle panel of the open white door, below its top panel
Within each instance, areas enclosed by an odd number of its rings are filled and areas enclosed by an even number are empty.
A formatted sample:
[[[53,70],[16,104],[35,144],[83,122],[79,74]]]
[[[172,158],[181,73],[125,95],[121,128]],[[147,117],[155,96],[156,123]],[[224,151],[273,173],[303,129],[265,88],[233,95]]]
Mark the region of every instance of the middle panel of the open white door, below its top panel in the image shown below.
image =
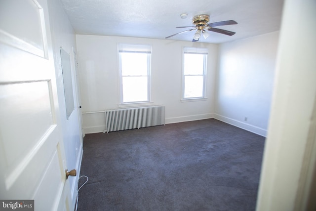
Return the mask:
[[[54,126],[49,93],[47,81],[0,85],[1,139],[11,140],[3,142],[8,167],[25,160]]]

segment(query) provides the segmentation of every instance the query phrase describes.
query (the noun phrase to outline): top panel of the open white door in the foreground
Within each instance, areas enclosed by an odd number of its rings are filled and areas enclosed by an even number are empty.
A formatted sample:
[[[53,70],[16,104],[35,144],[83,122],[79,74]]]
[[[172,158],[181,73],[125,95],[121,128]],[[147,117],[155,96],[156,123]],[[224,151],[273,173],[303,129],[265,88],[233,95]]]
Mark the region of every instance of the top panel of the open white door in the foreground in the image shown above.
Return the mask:
[[[36,0],[1,0],[0,39],[45,57],[46,31],[43,8]],[[5,20],[5,21],[4,21]]]

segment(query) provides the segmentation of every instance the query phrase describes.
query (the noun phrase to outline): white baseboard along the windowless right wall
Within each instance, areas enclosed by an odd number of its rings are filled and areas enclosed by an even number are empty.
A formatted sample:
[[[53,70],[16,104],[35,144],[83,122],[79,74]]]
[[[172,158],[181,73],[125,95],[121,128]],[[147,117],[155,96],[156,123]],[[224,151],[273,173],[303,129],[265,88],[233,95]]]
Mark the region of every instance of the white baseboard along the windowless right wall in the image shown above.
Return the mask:
[[[233,126],[236,126],[236,127],[239,127],[239,128],[245,129],[245,130],[248,130],[248,131],[253,132],[253,133],[256,133],[258,135],[262,135],[264,137],[267,137],[267,130],[263,129],[261,127],[257,127],[257,126],[253,126],[253,125],[250,125],[250,124],[247,124],[247,123],[243,123],[243,122],[240,122],[238,120],[234,120],[234,119],[231,119],[231,118],[228,118],[228,117],[224,117],[224,116],[219,115],[219,114],[214,114],[213,118],[216,119],[216,120],[220,120],[220,121],[222,121],[224,123],[228,123],[230,125],[233,125]]]

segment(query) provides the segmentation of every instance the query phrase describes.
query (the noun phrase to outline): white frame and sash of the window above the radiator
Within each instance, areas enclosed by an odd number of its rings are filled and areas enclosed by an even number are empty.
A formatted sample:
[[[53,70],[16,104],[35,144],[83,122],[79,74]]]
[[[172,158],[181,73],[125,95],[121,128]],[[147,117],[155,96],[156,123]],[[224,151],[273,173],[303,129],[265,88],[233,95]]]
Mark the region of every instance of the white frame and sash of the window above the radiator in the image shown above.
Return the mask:
[[[122,63],[121,63],[121,54],[122,52],[128,53],[146,53],[147,54],[147,100],[145,101],[123,101],[123,76],[122,75]],[[152,104],[151,102],[151,54],[152,54],[152,46],[149,44],[126,44],[126,43],[118,43],[118,72],[119,72],[119,99],[120,103],[118,106],[129,106],[129,105],[144,105],[144,104]],[[135,76],[130,76],[135,77]]]

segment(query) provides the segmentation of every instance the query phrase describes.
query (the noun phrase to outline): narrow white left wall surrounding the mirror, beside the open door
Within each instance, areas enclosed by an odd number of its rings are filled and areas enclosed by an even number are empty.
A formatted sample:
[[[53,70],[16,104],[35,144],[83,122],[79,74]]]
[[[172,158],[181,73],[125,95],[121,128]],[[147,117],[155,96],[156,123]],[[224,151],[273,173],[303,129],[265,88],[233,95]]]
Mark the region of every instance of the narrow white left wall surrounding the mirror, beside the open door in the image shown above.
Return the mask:
[[[68,169],[77,169],[77,177],[69,177],[68,181],[72,191],[73,207],[77,197],[77,186],[79,178],[79,170],[82,156],[82,135],[79,132],[79,110],[78,97],[76,92],[76,77],[73,63],[73,47],[76,50],[76,37],[70,21],[64,12],[63,6],[59,0],[48,0],[48,10],[50,18],[50,27],[52,33],[52,43],[54,51],[54,62],[57,81],[57,92],[59,101],[59,110],[61,114],[61,126],[64,140],[64,147],[66,152],[66,161]],[[60,46],[63,47],[72,60],[72,76],[73,76],[73,90],[75,100],[75,110],[71,114],[69,120],[66,118],[66,105],[63,87],[63,77],[61,69]]]

